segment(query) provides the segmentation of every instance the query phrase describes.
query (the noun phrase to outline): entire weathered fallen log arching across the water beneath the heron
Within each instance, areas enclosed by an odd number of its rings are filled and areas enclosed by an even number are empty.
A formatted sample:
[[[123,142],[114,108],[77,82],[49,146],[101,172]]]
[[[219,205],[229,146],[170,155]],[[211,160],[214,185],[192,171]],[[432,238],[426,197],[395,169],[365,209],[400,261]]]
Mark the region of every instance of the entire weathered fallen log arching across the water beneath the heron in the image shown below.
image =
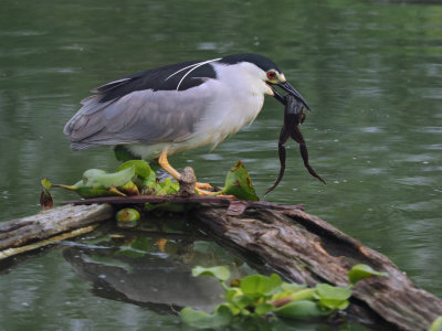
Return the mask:
[[[284,278],[305,282],[347,285],[347,271],[366,264],[387,278],[358,282],[354,297],[367,310],[401,330],[428,330],[442,314],[442,301],[417,288],[386,256],[339,232],[325,221],[304,213],[301,206],[269,202],[239,202],[223,196],[131,196],[78,200],[39,215],[0,224],[0,249],[84,227],[113,215],[113,205],[140,203],[193,204],[188,217],[246,256],[257,258],[266,273],[276,270]],[[94,203],[94,204],[92,204]],[[99,204],[96,204],[99,203]],[[196,207],[194,207],[196,205]],[[358,303],[357,302],[357,303]],[[358,305],[359,305],[358,303]],[[368,308],[368,309],[367,309]],[[361,312],[357,312],[362,316]]]

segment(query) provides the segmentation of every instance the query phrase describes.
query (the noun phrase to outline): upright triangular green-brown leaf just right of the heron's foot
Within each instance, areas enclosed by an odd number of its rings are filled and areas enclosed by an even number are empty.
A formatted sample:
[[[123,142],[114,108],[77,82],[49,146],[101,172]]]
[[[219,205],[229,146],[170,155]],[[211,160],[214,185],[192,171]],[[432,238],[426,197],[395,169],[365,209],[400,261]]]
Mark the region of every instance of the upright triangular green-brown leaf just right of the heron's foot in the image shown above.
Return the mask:
[[[238,161],[228,172],[224,189],[221,192],[234,195],[238,199],[260,200],[253,188],[252,180],[241,161]]]

